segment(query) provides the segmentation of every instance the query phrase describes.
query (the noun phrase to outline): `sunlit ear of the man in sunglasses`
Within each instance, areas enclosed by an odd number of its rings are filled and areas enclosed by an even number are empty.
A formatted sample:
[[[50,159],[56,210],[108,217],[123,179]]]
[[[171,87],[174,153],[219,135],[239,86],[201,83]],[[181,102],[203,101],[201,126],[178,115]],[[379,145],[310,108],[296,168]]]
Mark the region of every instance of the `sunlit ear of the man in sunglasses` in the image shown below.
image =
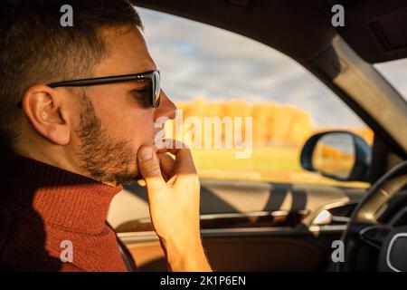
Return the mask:
[[[36,131],[58,145],[66,145],[71,138],[68,119],[62,113],[62,95],[46,85],[35,85],[23,96],[25,116]]]

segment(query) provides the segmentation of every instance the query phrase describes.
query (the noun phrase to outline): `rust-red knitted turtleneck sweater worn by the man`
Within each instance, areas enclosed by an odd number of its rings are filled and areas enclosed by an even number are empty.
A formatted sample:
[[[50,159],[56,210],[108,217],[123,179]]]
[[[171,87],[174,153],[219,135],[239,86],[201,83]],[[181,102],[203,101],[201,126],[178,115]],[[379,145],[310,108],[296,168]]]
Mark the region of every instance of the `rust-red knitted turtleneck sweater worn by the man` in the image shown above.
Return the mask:
[[[105,223],[121,186],[6,156],[0,159],[0,270],[127,271]],[[64,251],[70,249],[71,256]]]

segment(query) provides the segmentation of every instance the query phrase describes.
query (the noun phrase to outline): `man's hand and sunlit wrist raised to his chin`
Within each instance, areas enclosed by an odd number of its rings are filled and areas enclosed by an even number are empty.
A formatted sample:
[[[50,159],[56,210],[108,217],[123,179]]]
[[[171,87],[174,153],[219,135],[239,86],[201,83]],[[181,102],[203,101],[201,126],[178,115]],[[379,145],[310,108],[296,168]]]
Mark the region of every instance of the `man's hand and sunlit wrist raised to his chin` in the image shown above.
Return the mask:
[[[174,146],[172,146],[174,148]],[[175,160],[166,152],[175,155]],[[190,150],[142,146],[138,169],[147,185],[153,227],[171,271],[211,271],[199,227],[200,183]]]

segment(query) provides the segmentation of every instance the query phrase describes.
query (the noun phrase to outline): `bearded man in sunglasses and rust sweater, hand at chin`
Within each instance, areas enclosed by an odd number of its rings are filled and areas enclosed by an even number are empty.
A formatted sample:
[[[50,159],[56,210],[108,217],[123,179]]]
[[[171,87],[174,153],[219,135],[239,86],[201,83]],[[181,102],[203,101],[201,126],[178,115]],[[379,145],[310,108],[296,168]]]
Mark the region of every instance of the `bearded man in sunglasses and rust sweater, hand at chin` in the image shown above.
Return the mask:
[[[154,146],[175,104],[137,12],[72,0],[74,26],[62,27],[62,5],[0,5],[0,268],[127,271],[107,212],[122,184],[143,179],[169,269],[210,271],[191,153]]]

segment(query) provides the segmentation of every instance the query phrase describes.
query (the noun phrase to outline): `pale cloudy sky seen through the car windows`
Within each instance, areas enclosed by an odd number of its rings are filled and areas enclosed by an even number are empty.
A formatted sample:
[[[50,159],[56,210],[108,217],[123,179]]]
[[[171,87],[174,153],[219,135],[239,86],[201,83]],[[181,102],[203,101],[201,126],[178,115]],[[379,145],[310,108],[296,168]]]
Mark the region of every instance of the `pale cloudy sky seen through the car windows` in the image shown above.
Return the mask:
[[[344,102],[288,56],[207,24],[142,8],[137,11],[161,71],[162,87],[175,102],[196,97],[209,102],[277,102],[308,111],[316,127],[364,127]],[[405,93],[406,68],[407,62],[379,69]]]

